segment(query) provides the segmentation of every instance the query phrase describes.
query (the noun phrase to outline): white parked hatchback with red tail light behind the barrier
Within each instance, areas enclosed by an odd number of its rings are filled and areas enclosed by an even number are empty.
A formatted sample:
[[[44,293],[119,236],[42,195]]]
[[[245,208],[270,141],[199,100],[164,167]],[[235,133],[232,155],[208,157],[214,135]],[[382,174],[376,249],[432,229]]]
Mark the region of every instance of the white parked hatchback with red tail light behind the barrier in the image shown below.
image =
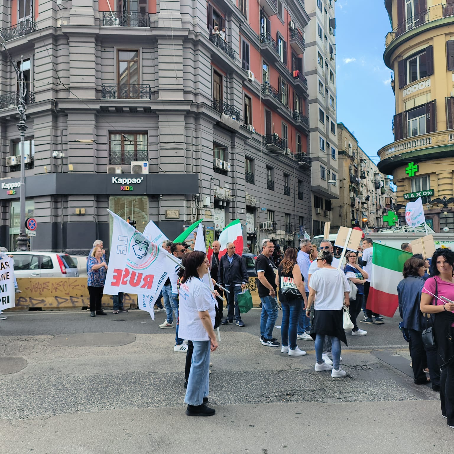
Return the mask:
[[[16,277],[79,277],[77,263],[62,252],[14,251]]]

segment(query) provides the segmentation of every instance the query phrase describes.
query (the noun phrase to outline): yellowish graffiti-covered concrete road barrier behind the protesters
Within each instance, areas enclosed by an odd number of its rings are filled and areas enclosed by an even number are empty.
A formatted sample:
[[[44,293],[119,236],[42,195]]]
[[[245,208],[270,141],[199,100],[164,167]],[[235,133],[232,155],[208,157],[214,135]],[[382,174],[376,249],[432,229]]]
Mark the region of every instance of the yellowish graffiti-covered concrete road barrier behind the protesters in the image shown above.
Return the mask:
[[[247,288],[252,294],[252,304],[258,307],[257,278],[249,277]],[[80,309],[89,306],[89,293],[86,277],[37,277],[19,278],[18,286],[22,293],[16,293],[16,307],[9,311],[24,311],[29,308],[44,310]],[[137,295],[124,294],[123,304],[128,309],[137,308]],[[113,306],[113,296],[103,296],[103,306]]]

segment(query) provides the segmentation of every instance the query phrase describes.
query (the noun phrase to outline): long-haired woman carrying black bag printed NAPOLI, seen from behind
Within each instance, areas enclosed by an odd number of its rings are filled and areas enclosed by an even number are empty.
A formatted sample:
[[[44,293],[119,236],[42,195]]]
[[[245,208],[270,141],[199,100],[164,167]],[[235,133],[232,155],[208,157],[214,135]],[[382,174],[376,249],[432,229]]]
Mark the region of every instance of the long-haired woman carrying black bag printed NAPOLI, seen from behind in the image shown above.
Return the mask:
[[[296,247],[287,247],[277,269],[276,286],[279,287],[279,301],[282,305],[281,352],[289,356],[304,356],[306,352],[296,345],[298,320],[301,311],[307,306],[304,278],[296,262]]]

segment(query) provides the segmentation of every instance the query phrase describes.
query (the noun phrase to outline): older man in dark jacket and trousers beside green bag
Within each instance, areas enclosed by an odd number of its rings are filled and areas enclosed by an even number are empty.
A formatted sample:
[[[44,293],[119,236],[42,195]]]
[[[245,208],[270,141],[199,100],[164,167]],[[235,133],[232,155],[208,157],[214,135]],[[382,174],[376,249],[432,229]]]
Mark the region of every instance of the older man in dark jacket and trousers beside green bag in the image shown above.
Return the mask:
[[[238,307],[237,295],[246,288],[248,281],[249,276],[247,275],[243,258],[235,253],[235,245],[233,243],[227,243],[227,254],[220,258],[217,270],[217,283],[230,291],[226,295],[227,318],[222,320],[222,325],[231,325],[233,323],[233,312],[235,309],[235,325],[244,326]]]

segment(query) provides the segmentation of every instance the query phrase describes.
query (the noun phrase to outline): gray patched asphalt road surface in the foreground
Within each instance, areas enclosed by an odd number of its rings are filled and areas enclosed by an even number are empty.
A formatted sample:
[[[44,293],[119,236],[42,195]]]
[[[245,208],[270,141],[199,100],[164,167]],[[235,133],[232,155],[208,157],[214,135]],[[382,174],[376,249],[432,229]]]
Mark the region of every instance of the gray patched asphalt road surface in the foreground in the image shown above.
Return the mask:
[[[439,394],[414,385],[399,317],[347,335],[343,368],[315,372],[312,341],[289,357],[259,343],[260,310],[222,326],[212,354],[216,415],[189,418],[185,354],[165,313],[90,318],[12,312],[0,321],[0,453],[452,453]],[[358,317],[360,318],[360,317]],[[276,323],[280,325],[280,316]],[[280,340],[280,330],[274,336]]]

